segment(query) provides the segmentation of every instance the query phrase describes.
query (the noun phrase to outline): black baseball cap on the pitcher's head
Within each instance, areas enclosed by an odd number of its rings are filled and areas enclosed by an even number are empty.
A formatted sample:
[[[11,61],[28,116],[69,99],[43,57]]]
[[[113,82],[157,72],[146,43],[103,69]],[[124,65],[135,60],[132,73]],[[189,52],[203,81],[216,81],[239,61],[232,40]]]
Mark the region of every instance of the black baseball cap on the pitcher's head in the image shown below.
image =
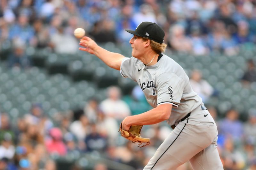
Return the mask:
[[[149,38],[160,44],[164,42],[164,30],[155,22],[142,22],[137,26],[135,31],[127,29],[125,31],[139,37]]]

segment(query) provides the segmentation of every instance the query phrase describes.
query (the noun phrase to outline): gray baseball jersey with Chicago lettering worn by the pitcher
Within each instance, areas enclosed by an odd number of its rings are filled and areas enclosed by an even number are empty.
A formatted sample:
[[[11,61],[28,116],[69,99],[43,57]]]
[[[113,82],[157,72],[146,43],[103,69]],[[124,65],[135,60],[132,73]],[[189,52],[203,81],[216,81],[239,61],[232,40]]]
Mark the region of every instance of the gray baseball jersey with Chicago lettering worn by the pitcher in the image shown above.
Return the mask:
[[[164,103],[173,105],[172,114],[167,120],[169,125],[177,125],[202,104],[202,99],[193,91],[183,68],[167,55],[147,67],[137,58],[124,58],[120,72],[123,77],[138,82],[152,107]]]

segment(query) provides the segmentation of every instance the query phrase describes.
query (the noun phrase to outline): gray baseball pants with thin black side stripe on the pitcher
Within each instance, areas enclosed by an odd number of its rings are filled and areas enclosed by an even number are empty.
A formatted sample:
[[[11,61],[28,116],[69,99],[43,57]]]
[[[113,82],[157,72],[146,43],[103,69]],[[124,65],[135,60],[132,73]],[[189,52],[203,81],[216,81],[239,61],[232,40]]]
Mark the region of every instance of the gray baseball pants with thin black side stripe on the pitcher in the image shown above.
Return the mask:
[[[194,170],[223,170],[217,135],[212,116],[199,106],[178,123],[143,170],[175,170],[188,160]]]

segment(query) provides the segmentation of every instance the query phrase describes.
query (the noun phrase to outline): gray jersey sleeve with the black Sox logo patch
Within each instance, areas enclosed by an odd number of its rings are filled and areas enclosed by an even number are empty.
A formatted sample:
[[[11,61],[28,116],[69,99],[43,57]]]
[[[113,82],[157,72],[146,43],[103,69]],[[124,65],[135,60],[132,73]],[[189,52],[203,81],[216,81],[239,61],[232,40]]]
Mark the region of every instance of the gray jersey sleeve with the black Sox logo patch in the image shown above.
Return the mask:
[[[157,105],[170,103],[174,107],[180,105],[185,81],[173,72],[161,74],[156,81]]]

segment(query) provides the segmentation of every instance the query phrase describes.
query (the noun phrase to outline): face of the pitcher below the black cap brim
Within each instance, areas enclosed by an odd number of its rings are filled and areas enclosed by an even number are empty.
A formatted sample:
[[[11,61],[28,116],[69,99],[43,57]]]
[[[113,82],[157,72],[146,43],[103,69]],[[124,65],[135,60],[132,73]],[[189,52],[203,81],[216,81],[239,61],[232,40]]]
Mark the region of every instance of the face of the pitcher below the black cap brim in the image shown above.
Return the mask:
[[[145,51],[145,42],[142,37],[134,35],[129,41],[132,46],[132,56],[135,58],[140,58]]]

